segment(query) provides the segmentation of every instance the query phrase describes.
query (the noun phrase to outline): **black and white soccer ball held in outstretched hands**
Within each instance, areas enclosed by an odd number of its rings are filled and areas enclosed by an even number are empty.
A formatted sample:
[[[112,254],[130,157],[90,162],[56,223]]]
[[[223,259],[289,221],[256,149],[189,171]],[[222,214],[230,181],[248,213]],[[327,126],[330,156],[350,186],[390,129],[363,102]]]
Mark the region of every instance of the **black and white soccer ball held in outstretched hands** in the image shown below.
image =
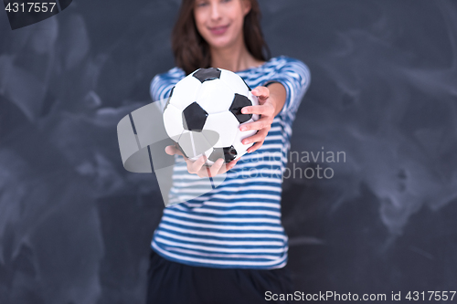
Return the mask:
[[[219,158],[231,162],[252,145],[241,141],[257,132],[239,131],[239,125],[259,119],[257,114],[242,114],[241,108],[258,104],[250,87],[236,73],[199,68],[171,90],[164,110],[165,131],[193,161],[205,154],[207,165]]]

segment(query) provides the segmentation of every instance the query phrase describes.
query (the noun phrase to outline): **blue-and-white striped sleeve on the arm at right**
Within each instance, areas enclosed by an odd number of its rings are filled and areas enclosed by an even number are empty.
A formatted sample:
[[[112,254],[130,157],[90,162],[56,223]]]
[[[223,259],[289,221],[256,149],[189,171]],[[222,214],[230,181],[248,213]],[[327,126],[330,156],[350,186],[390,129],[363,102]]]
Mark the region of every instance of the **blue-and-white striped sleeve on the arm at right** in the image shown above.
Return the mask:
[[[309,68],[300,60],[282,56],[282,63],[278,66],[276,74],[263,86],[268,86],[272,82],[279,82],[286,89],[286,100],[279,115],[294,116],[311,82]]]

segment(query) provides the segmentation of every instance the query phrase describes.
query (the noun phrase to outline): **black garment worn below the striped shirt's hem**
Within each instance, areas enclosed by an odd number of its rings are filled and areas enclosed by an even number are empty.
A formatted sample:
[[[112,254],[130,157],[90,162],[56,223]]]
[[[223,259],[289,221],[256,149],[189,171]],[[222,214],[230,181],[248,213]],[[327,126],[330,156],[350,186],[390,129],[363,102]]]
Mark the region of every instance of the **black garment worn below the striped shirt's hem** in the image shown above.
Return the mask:
[[[258,270],[193,267],[160,257],[151,250],[146,304],[286,303],[266,300],[293,293],[286,267]]]

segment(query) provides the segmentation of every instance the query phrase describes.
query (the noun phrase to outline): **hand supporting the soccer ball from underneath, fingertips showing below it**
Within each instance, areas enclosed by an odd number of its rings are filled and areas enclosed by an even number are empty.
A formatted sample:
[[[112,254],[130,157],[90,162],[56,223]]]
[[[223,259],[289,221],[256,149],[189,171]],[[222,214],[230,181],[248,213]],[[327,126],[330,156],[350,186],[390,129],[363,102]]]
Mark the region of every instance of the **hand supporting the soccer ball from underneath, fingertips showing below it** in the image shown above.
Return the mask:
[[[238,162],[237,160],[233,160],[231,162],[225,163],[223,159],[219,158],[216,162],[213,163],[212,166],[207,167],[205,165],[206,156],[200,156],[197,161],[192,161],[188,159],[183,152],[177,149],[175,146],[167,146],[165,148],[165,152],[168,155],[181,155],[183,156],[184,160],[187,163],[187,171],[192,174],[197,174],[199,177],[212,177],[218,174],[226,173],[228,170],[233,168],[233,166]]]

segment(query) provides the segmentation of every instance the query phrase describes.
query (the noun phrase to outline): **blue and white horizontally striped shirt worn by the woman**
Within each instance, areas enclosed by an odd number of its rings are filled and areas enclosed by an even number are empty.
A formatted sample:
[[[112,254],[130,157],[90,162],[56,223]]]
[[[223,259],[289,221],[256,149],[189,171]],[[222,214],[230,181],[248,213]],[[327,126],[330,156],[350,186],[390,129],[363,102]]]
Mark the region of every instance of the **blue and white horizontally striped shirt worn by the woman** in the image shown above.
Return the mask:
[[[281,222],[282,173],[310,72],[300,60],[280,56],[237,74],[252,89],[271,81],[282,83],[287,92],[284,106],[260,149],[243,155],[217,188],[165,208],[151,246],[160,256],[191,266],[284,267],[288,238]],[[156,75],[150,91],[153,100],[167,98],[185,77],[181,68]],[[181,164],[175,166],[176,173],[186,171],[186,162]],[[189,185],[187,178],[173,187],[179,191]]]

